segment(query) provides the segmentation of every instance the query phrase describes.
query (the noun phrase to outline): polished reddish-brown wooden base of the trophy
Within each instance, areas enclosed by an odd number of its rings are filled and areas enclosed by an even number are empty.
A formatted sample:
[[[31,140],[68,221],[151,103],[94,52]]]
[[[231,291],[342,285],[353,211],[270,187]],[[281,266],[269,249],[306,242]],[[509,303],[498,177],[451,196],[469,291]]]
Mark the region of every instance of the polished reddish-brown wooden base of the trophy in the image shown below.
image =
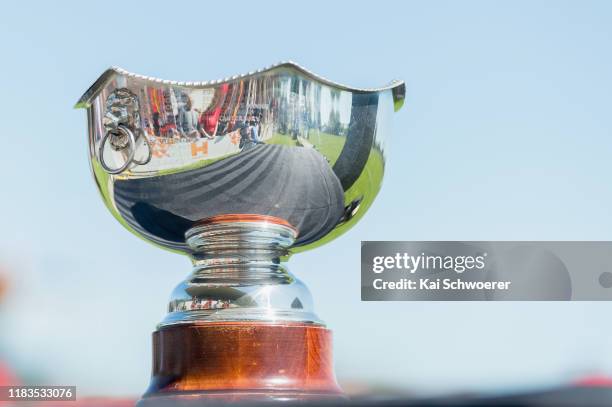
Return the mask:
[[[325,327],[197,322],[153,333],[151,384],[138,405],[329,399],[342,400],[344,394]]]

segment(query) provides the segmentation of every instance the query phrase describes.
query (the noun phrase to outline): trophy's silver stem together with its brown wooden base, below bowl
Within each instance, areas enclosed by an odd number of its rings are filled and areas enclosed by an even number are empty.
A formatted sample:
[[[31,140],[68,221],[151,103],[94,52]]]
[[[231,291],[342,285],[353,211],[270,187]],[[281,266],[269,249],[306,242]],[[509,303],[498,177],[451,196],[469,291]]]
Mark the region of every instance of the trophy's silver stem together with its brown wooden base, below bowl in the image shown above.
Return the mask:
[[[194,268],[153,334],[153,374],[140,405],[343,397],[331,331],[283,263],[297,234],[260,215],[217,216],[187,231]]]

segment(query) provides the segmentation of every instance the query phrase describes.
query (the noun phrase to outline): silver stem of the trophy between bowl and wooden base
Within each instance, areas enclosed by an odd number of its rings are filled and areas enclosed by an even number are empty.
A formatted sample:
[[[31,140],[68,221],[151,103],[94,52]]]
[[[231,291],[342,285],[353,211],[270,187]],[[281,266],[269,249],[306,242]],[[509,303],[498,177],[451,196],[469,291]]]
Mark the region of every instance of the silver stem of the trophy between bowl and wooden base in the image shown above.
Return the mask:
[[[323,325],[308,288],[284,259],[297,230],[272,216],[221,215],[185,234],[192,273],[173,291],[160,326],[264,321]]]

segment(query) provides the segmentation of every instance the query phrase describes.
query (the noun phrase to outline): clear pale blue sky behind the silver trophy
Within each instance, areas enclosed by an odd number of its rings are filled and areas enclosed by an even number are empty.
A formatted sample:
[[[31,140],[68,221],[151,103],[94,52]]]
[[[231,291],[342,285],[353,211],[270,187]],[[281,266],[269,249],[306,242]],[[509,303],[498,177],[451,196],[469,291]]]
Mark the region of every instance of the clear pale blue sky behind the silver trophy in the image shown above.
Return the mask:
[[[361,303],[361,240],[611,240],[612,3],[11,2],[0,13],[0,355],[39,383],[138,395],[186,258],[108,213],[72,106],[108,66],[208,80],[292,59],[406,81],[379,197],[294,256],[338,377],[421,392],[612,374],[609,303]]]

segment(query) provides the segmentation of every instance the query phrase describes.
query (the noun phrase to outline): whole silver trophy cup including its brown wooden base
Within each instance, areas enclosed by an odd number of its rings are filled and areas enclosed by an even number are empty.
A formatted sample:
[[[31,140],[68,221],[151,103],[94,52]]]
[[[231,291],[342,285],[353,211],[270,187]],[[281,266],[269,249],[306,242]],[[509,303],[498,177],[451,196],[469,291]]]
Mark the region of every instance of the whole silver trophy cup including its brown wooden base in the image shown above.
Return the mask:
[[[112,68],[83,95],[107,207],[193,263],[153,333],[141,405],[342,397],[331,332],[285,261],[372,204],[404,93],[402,82],[350,88],[288,62],[212,82]]]

